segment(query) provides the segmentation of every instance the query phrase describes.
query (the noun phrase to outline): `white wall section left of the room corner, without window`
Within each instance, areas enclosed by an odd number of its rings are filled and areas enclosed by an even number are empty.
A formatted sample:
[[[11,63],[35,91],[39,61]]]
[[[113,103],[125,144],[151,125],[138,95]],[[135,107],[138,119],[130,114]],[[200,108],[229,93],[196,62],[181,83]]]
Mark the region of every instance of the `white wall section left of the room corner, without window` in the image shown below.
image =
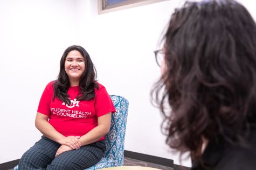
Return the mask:
[[[0,1],[0,164],[19,159],[36,142],[40,95],[56,79],[63,51],[77,42],[74,3]]]

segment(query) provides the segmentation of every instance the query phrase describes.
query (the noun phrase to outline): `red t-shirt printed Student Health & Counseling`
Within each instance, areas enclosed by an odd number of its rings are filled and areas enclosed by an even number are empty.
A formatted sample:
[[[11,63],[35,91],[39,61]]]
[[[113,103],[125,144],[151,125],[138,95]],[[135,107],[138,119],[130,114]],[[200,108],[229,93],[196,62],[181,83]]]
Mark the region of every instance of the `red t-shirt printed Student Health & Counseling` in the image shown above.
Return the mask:
[[[70,87],[67,94],[70,95],[71,105],[68,106],[58,98],[52,100],[53,83],[45,87],[37,112],[49,116],[49,123],[64,136],[83,136],[98,125],[98,117],[115,112],[113,102],[101,84],[99,90],[95,88],[95,98],[86,101],[75,99],[79,86]]]

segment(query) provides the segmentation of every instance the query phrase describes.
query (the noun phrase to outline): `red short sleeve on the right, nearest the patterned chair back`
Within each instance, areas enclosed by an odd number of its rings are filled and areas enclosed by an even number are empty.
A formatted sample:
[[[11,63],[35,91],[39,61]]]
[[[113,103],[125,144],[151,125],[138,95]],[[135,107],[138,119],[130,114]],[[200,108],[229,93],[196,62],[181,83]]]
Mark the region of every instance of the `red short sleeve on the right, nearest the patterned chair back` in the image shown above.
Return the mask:
[[[95,112],[98,117],[109,112],[115,113],[115,107],[106,88],[100,85],[99,90],[95,91]]]

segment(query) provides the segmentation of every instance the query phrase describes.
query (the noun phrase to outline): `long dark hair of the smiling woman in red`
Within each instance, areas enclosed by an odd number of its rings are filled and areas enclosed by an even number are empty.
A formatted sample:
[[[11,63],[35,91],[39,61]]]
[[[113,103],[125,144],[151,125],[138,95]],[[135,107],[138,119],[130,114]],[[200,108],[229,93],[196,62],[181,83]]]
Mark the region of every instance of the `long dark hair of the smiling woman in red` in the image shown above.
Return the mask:
[[[78,100],[91,100],[95,97],[95,87],[99,88],[99,84],[96,83],[97,72],[95,66],[87,53],[87,51],[81,46],[70,46],[68,47],[63,56],[60,59],[60,71],[56,82],[53,84],[54,98],[59,98],[66,104],[70,105],[70,99],[67,94],[68,88],[70,87],[70,81],[68,80],[67,73],[65,71],[65,61],[70,51],[77,50],[85,59],[85,71],[82,73],[79,82],[79,94],[77,95]]]

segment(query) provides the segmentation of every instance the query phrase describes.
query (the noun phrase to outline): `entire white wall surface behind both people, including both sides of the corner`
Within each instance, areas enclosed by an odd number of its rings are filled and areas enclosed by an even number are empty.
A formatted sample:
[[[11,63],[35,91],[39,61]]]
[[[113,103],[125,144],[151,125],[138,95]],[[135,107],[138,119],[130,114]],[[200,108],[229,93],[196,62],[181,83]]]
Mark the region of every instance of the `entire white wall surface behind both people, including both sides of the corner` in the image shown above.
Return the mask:
[[[0,164],[19,159],[40,138],[34,117],[41,92],[57,77],[60,57],[73,44],[87,49],[109,94],[129,100],[125,149],[181,164],[164,143],[149,92],[160,76],[153,51],[182,2],[98,15],[96,0],[1,0]],[[255,2],[239,2],[255,18]],[[190,160],[182,165],[190,166]]]

